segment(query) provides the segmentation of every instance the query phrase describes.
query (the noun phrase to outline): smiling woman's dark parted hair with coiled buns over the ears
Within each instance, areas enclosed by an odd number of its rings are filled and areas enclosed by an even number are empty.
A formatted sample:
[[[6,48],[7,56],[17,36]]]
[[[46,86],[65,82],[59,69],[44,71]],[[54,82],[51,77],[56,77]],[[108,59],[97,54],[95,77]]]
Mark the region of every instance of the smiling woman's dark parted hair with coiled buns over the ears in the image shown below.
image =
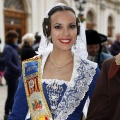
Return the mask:
[[[75,11],[71,7],[65,6],[65,5],[55,6],[48,12],[48,18],[44,18],[43,24],[42,24],[43,25],[43,33],[46,37],[49,37],[50,32],[51,32],[51,22],[50,22],[51,16],[57,11],[66,11],[66,10],[71,11],[75,14]],[[78,35],[79,31],[80,31],[78,18],[76,18],[76,24],[77,24],[77,35]]]

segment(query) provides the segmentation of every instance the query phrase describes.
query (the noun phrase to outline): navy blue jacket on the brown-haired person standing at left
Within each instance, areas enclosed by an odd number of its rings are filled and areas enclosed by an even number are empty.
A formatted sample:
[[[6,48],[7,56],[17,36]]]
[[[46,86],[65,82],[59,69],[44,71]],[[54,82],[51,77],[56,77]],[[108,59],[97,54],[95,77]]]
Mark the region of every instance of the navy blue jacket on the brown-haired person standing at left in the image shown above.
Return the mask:
[[[21,63],[16,44],[6,44],[4,47],[5,76],[18,78],[21,75]]]

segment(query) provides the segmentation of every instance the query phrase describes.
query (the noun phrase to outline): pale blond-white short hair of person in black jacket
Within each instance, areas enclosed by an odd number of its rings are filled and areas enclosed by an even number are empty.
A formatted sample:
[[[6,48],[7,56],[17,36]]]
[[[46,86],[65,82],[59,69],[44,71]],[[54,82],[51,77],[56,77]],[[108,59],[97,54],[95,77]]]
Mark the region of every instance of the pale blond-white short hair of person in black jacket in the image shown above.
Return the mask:
[[[31,43],[33,43],[34,40],[35,40],[34,34],[32,34],[32,33],[26,33],[22,37],[22,43],[21,44],[22,44],[22,46],[24,46],[24,45],[31,46],[32,45]]]

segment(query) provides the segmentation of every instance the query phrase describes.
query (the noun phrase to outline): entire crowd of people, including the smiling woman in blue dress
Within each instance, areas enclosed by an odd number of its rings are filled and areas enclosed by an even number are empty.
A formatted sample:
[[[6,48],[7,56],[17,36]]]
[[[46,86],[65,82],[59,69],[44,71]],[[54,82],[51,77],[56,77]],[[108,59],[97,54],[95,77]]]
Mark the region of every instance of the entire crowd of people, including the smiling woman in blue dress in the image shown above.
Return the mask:
[[[120,34],[112,43],[85,30],[62,3],[43,19],[43,34],[10,30],[0,53],[6,80],[4,120],[118,120]],[[37,51],[37,52],[36,52]]]

